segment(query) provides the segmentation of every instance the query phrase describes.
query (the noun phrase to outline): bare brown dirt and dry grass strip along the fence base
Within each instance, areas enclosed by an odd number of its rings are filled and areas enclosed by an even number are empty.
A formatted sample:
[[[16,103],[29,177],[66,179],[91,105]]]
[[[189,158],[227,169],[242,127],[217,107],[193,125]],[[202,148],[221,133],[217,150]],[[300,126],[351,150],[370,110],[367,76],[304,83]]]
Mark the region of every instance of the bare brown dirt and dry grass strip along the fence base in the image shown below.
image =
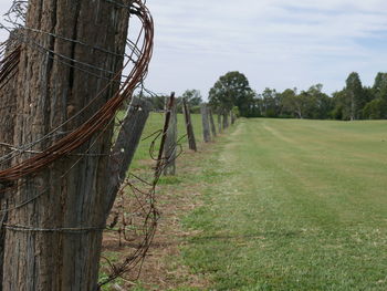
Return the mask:
[[[115,284],[112,284],[106,290],[129,290],[138,284],[144,290],[171,290],[178,288],[185,290],[184,288],[188,287],[205,290],[209,284],[206,279],[192,274],[189,268],[184,266],[180,257],[180,248],[184,246],[185,239],[192,235],[181,229],[180,219],[185,214],[199,205],[203,185],[192,183],[181,185],[179,176],[195,175],[195,173],[200,172],[200,167],[190,165],[194,159],[201,155],[202,153],[185,153],[177,162],[179,175],[176,178],[161,180],[157,187],[157,207],[160,218],[151,247],[140,268],[142,272],[138,280],[134,280],[134,273],[132,272],[128,276],[130,278],[118,279]],[[151,167],[151,164],[148,162],[144,162],[142,165]],[[144,168],[136,170],[135,174],[149,176],[149,173],[146,173]],[[129,209],[138,207],[133,200],[129,198],[117,199],[108,224],[116,219],[115,217],[121,205],[128,212],[133,211]],[[130,220],[134,218],[130,216],[126,219]],[[139,217],[138,219],[140,220],[142,218]],[[136,230],[127,231],[126,238],[127,240],[124,238],[124,233],[117,231],[106,231],[104,233],[103,256],[111,263],[119,264],[128,254],[136,250],[142,240],[140,236],[137,237]],[[103,259],[102,272],[108,273],[108,270],[109,264]],[[137,273],[137,271],[139,271],[138,268],[135,272]]]

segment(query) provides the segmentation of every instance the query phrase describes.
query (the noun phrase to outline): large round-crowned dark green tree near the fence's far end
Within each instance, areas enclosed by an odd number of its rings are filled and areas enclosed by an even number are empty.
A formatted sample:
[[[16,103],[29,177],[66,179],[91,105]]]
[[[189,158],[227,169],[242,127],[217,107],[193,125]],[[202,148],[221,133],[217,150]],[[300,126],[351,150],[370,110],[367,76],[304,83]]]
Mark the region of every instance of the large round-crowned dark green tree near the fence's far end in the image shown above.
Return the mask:
[[[209,102],[218,110],[231,111],[237,106],[241,116],[249,116],[254,95],[245,75],[234,71],[219,77],[209,92]]]

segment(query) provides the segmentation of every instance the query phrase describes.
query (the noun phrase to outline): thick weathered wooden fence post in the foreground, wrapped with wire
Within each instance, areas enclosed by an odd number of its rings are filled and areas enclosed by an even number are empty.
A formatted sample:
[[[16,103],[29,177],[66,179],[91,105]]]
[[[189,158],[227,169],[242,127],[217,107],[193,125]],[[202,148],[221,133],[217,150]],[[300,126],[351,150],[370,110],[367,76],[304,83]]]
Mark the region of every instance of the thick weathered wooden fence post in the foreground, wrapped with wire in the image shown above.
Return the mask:
[[[122,0],[114,2],[29,1],[29,41],[22,46],[18,74],[15,145],[31,144],[76,116],[33,148],[43,150],[83,124],[117,91],[118,83],[109,85],[108,80],[123,65],[128,10]],[[17,202],[31,202],[9,212],[3,290],[96,290],[112,129],[81,146],[74,154],[86,153],[82,158],[57,160],[19,185],[13,194]],[[18,162],[28,157],[23,154]]]

